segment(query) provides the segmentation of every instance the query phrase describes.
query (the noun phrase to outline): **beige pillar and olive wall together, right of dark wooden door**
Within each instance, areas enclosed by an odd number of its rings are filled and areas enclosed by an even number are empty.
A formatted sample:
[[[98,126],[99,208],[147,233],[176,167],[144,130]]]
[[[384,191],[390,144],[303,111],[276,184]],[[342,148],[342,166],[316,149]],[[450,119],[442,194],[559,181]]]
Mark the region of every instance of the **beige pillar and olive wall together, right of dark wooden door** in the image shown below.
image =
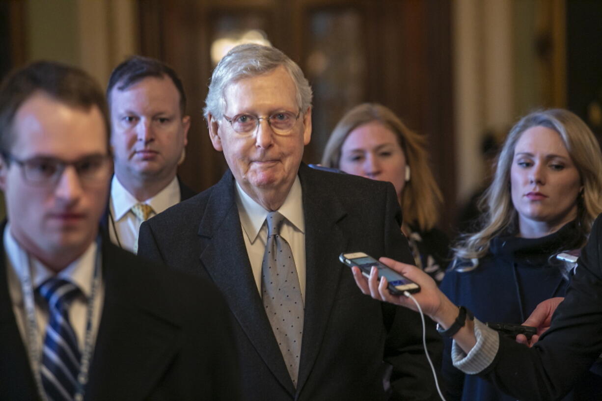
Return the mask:
[[[486,176],[483,132],[503,139],[518,117],[535,108],[564,107],[562,0],[456,0],[453,66],[456,174],[459,204]],[[552,60],[536,55],[536,37],[549,34]],[[560,93],[560,95],[559,95]]]

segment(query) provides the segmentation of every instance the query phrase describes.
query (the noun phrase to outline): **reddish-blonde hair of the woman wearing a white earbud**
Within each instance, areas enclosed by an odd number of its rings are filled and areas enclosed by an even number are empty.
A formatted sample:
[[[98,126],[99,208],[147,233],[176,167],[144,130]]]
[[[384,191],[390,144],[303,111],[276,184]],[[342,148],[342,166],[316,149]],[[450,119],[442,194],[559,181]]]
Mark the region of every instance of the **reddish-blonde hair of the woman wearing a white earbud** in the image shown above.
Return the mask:
[[[321,163],[338,168],[341,148],[347,135],[358,126],[373,121],[382,123],[397,136],[412,172],[401,199],[404,220],[422,231],[428,231],[439,219],[439,205],[443,197],[429,167],[426,137],[408,129],[389,108],[376,103],[364,103],[349,110],[330,134]]]

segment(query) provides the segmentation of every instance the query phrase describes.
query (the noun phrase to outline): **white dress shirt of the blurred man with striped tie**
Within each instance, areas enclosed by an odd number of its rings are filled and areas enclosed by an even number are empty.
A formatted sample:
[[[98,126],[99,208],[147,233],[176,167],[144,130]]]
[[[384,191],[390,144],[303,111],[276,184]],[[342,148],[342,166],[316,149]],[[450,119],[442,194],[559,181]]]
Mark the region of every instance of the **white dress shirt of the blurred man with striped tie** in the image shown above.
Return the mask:
[[[52,270],[49,270],[39,260],[29,255],[17,241],[14,239],[10,232],[10,223],[7,224],[4,229],[4,250],[5,250],[5,263],[7,266],[8,276],[8,293],[10,293],[10,299],[13,303],[13,312],[17,320],[17,326],[25,347],[29,347],[26,334],[26,322],[27,313],[25,310],[25,303],[23,302],[23,289],[21,279],[25,274],[25,269],[29,270],[31,275],[31,282],[33,284],[33,291],[39,287],[47,279],[55,276]],[[73,299],[69,306],[69,321],[75,331],[75,335],[78,338],[79,349],[84,348],[84,335],[86,325],[86,312],[88,307],[88,297],[92,292],[92,279],[94,275],[94,267],[96,263],[96,252],[98,251],[96,241],[88,247],[87,250],[77,260],[73,261],[65,269],[61,270],[58,275],[59,278],[65,279],[77,285],[79,290],[82,291],[80,296]],[[101,275],[101,269],[99,269],[99,275]],[[42,297],[36,297],[39,302],[36,302],[36,322],[37,322],[37,344],[38,350],[42,350],[44,337],[46,334],[46,325],[48,325],[49,314],[48,305]],[[102,278],[99,280],[99,286],[96,288],[95,306],[92,316],[92,343],[95,342],[96,332],[98,332],[98,325],[101,319],[102,304],[104,300],[104,285],[102,284]]]

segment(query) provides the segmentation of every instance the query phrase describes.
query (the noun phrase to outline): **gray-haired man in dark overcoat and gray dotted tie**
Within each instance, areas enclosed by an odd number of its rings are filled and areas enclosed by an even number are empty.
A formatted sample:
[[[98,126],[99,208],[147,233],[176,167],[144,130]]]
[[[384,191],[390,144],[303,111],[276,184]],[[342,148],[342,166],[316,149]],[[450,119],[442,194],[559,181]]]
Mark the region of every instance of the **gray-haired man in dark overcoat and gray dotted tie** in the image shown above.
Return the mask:
[[[205,116],[229,170],[143,223],[139,253],[213,280],[234,322],[247,400],[435,400],[420,317],[353,288],[341,252],[412,254],[393,186],[309,169],[311,88],[281,51],[232,49]],[[433,356],[441,343],[433,325]]]

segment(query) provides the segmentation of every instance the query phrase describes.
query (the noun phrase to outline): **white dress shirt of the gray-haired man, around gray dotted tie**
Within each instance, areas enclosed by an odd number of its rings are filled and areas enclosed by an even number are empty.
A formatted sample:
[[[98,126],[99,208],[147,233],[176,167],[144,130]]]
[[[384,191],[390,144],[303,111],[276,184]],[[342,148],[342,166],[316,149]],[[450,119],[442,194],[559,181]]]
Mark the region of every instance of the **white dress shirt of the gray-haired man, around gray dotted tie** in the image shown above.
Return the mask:
[[[236,204],[243,227],[244,244],[253,270],[257,290],[261,294],[261,264],[267,243],[267,225],[265,218],[268,211],[247,195],[236,183]],[[305,218],[303,217],[302,189],[299,177],[288,192],[287,199],[278,211],[286,218],[282,223],[281,237],[288,241],[293,252],[293,259],[299,276],[301,296],[305,301]]]

